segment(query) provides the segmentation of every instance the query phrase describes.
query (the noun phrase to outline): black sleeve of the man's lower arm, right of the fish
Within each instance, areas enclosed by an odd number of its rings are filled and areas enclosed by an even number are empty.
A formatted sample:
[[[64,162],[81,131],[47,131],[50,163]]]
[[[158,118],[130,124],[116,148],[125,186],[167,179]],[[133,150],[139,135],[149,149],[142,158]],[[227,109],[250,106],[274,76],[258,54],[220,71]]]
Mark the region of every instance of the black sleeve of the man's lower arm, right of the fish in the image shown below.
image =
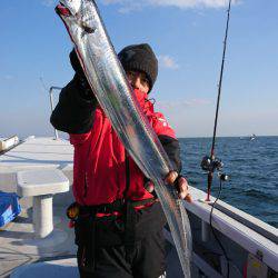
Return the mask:
[[[176,170],[178,173],[181,171],[181,159],[180,159],[180,146],[179,141],[175,138],[171,138],[169,136],[158,136],[160,142],[163,146],[165,151],[167,152],[173,170]]]

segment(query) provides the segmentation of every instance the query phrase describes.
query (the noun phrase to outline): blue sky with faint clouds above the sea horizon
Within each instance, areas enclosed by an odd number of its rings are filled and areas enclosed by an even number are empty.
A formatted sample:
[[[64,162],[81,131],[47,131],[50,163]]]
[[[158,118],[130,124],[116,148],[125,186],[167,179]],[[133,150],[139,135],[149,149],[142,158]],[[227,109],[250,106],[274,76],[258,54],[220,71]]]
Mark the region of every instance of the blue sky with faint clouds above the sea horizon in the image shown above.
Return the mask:
[[[53,136],[48,90],[72,78],[53,0],[0,2],[0,137]],[[116,51],[148,42],[151,97],[178,137],[211,137],[227,0],[99,0]],[[278,135],[278,1],[232,2],[218,136]],[[56,91],[56,101],[59,91]]]

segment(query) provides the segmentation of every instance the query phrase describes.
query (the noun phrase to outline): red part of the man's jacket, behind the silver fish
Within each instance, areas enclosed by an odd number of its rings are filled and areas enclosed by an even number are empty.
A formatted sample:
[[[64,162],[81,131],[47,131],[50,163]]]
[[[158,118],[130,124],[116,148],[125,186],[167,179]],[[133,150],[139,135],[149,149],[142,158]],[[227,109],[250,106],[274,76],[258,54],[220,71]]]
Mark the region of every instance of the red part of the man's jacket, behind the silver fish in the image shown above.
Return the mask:
[[[135,93],[156,133],[176,138],[163,115],[153,111],[147,95]],[[110,203],[123,198],[123,195],[131,200],[153,197],[143,188],[145,176],[135,161],[128,157],[127,163],[125,148],[99,106],[91,130],[80,135],[70,133],[70,142],[75,147],[73,195],[80,205]],[[129,186],[125,192],[127,175]]]

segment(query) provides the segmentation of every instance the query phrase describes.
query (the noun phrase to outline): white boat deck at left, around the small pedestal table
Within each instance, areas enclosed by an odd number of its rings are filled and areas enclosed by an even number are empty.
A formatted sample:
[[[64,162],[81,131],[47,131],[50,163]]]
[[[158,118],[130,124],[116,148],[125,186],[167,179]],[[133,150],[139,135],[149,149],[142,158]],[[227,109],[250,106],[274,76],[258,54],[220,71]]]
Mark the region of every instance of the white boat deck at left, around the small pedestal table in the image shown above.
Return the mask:
[[[67,140],[29,137],[0,156],[0,191],[17,192],[17,172],[30,169],[60,169],[72,183],[73,149]],[[68,227],[66,209],[73,201],[71,190],[53,197],[53,232],[43,239],[34,236],[32,197],[20,199],[22,211],[0,228],[0,277],[78,277],[75,231]],[[175,248],[168,248],[168,261],[175,261]],[[182,277],[175,267],[175,277]]]

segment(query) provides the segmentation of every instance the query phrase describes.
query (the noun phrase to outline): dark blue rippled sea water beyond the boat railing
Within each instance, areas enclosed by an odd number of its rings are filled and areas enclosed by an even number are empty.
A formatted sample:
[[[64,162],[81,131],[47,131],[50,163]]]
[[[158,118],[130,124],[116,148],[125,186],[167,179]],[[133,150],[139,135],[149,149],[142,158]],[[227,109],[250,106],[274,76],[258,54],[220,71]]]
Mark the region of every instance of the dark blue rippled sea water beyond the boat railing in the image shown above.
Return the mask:
[[[207,175],[200,162],[210,155],[210,138],[179,139],[182,173],[189,183],[207,189]],[[225,163],[230,180],[224,183],[221,200],[278,228],[278,137],[217,138],[216,157]],[[219,180],[214,178],[212,195]]]

